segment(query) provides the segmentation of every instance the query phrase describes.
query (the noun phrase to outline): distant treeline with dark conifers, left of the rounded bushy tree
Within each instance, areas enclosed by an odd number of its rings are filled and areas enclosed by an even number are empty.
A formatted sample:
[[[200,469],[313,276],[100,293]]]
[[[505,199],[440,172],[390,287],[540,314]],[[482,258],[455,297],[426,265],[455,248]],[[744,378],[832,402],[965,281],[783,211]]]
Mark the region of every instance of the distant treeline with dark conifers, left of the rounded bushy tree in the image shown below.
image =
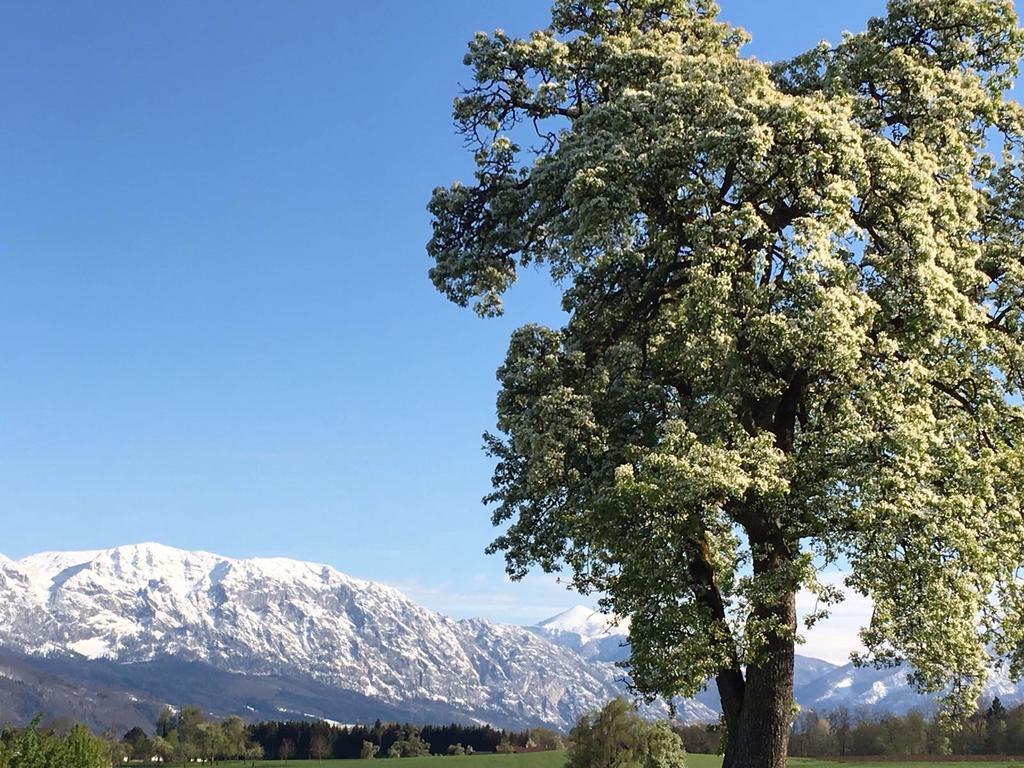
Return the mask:
[[[196,707],[165,710],[151,736],[132,728],[121,741],[126,756],[147,762],[195,760],[328,760],[421,755],[472,755],[520,749],[561,749],[558,733],[548,728],[505,731],[489,725],[385,723],[335,725],[325,721],[260,722],[246,725],[238,717],[209,721]],[[3,768],[0,766],[0,768]]]

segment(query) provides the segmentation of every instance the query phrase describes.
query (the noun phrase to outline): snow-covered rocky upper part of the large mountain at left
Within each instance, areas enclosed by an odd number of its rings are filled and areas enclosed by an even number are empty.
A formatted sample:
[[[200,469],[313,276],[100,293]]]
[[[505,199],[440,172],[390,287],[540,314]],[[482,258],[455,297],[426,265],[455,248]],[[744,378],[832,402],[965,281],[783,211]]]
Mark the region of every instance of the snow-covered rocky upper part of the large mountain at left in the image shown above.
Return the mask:
[[[566,727],[624,691],[621,670],[525,629],[454,621],[295,560],[158,544],[42,553],[0,561],[0,644],[23,652],[304,676],[493,722]]]

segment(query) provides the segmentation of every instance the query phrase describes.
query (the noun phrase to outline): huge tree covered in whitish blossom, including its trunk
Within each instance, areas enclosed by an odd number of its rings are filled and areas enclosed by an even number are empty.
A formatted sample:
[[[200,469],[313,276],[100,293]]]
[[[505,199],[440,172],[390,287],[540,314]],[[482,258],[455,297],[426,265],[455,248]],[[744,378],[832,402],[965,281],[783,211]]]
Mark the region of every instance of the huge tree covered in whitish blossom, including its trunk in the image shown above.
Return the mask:
[[[520,268],[563,289],[499,371],[493,550],[632,616],[641,691],[714,681],[727,768],[781,766],[823,564],[873,600],[863,660],[950,711],[989,650],[1024,663],[1022,35],[1006,0],[891,0],[769,66],[716,10],[477,35],[475,179],[428,249],[483,315]]]

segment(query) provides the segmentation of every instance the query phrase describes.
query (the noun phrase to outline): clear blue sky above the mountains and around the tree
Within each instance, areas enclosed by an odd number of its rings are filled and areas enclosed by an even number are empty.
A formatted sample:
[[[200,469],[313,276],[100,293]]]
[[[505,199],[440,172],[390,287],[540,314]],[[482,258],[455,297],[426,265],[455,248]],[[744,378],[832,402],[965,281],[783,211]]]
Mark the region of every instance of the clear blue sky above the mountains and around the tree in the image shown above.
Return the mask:
[[[722,6],[770,59],[883,3]],[[283,555],[509,622],[578,602],[482,554],[494,372],[515,326],[559,321],[556,294],[529,274],[481,321],[424,252],[431,188],[470,172],[466,42],[548,17],[0,4],[0,552]],[[821,655],[849,645],[836,628]]]

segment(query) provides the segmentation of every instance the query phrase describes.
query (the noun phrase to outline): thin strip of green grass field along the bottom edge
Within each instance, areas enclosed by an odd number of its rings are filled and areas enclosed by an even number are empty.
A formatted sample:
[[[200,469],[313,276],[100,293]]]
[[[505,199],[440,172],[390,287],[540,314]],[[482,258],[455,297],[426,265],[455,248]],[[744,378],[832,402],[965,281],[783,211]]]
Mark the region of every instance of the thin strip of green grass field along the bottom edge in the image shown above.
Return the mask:
[[[374,761],[378,763],[381,758]],[[471,755],[457,758],[394,758],[386,760],[388,765],[394,764],[395,768],[437,768],[437,764],[445,761],[444,765],[451,768],[562,768],[565,765],[565,753],[563,752],[535,752],[527,755]],[[314,760],[290,760],[283,763],[280,760],[264,760],[256,764],[256,768],[352,768],[351,760],[325,760],[317,763]],[[361,761],[360,761],[360,764]],[[371,764],[371,765],[373,765]],[[716,755],[687,755],[686,768],[721,768],[722,758]],[[828,760],[816,760],[814,758],[791,758],[791,768],[949,768],[951,765],[958,766],[983,766],[984,768],[1024,768],[1024,763],[1020,761],[992,761],[992,762],[952,762],[943,761],[940,763],[886,761],[861,762],[850,761],[837,763]],[[218,768],[249,768],[249,763],[220,763]]]

